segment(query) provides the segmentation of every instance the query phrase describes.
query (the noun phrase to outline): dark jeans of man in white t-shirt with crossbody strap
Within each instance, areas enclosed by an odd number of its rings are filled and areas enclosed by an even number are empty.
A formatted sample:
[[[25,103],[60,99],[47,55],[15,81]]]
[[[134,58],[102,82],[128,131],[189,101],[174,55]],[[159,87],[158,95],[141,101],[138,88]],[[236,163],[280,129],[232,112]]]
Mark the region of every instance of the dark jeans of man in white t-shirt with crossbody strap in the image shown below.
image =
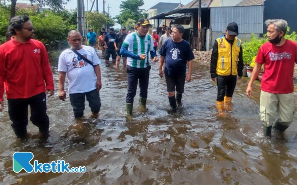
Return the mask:
[[[87,97],[87,101],[89,102],[89,107],[92,112],[98,113],[100,111],[101,100],[97,89],[85,93],[69,94],[69,97],[75,118],[79,118],[84,115],[85,97]]]

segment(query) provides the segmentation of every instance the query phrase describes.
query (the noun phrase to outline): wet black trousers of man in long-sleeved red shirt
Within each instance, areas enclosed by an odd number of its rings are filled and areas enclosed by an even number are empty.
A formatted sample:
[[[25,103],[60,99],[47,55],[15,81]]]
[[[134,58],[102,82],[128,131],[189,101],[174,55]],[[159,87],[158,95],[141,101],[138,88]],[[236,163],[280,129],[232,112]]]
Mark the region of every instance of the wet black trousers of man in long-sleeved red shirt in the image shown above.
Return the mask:
[[[38,126],[41,133],[49,132],[49,116],[47,114],[46,93],[40,93],[25,99],[7,99],[8,114],[12,121],[12,129],[17,137],[24,137],[27,133],[28,106],[30,105],[30,120]]]

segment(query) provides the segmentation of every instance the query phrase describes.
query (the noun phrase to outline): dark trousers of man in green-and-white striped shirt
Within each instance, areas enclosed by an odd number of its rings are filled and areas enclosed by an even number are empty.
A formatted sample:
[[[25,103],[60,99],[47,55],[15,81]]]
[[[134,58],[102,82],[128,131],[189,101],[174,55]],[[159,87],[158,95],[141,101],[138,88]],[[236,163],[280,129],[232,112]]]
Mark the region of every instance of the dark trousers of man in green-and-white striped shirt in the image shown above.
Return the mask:
[[[126,103],[133,103],[139,79],[140,97],[148,98],[148,78],[150,66],[133,68],[127,65],[128,93]]]

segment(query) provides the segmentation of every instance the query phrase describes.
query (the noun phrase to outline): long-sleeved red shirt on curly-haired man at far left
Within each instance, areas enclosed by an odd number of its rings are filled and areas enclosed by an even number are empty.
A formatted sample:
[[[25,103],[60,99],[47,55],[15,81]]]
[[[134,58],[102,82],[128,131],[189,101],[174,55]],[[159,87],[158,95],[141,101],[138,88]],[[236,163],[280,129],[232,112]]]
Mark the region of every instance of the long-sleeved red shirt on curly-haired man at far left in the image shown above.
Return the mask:
[[[21,43],[12,37],[0,45],[0,101],[4,85],[6,98],[11,99],[30,98],[54,89],[49,56],[42,42],[30,39]]]

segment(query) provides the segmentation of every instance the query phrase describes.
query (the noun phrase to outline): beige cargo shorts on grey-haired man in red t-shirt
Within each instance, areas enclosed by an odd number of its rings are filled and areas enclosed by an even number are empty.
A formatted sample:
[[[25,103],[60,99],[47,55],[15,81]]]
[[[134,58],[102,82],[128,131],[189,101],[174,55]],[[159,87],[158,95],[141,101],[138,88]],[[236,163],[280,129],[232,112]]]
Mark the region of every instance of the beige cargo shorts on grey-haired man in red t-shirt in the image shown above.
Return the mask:
[[[276,115],[278,122],[290,126],[294,120],[294,93],[275,94],[261,91],[260,116],[264,126],[272,126]]]

